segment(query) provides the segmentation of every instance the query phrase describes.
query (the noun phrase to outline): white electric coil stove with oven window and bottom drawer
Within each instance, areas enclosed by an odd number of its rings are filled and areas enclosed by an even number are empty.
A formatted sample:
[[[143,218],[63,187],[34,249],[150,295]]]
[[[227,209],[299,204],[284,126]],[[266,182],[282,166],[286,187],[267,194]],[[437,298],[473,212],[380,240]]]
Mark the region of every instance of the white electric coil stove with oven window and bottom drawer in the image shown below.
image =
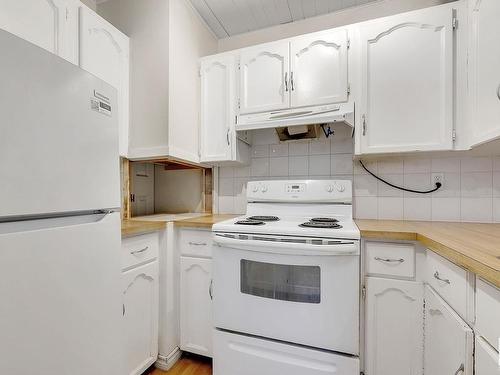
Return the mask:
[[[214,374],[359,374],[351,182],[249,182],[247,201],[213,227]]]

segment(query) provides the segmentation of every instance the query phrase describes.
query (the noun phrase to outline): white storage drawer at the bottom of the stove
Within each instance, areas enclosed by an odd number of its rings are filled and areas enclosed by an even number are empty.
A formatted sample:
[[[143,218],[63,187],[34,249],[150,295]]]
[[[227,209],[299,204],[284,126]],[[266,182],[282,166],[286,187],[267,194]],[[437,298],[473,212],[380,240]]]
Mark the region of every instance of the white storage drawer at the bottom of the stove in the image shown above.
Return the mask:
[[[217,375],[359,375],[359,358],[214,331]]]

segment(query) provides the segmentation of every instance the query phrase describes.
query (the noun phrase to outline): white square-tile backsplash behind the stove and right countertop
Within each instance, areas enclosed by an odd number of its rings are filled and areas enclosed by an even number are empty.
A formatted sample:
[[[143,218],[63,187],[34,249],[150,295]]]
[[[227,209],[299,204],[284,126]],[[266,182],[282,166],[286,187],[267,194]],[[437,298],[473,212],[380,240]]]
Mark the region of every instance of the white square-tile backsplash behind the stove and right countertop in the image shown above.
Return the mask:
[[[249,166],[219,169],[219,212],[244,213],[246,183],[266,179],[350,179],[358,219],[500,222],[500,157],[447,153],[441,157],[390,157],[365,162],[396,185],[433,187],[432,173],[444,174],[443,187],[431,194],[394,189],[353,162],[351,129],[339,125],[326,139],[280,143],[274,129],[253,134]]]

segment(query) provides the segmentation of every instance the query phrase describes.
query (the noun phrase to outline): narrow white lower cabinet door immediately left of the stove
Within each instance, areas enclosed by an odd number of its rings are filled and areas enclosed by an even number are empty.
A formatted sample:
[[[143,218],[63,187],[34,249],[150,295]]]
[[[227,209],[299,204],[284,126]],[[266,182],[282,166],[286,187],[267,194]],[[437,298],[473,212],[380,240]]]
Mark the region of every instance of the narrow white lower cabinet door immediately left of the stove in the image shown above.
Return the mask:
[[[181,349],[212,356],[212,260],[181,256]]]

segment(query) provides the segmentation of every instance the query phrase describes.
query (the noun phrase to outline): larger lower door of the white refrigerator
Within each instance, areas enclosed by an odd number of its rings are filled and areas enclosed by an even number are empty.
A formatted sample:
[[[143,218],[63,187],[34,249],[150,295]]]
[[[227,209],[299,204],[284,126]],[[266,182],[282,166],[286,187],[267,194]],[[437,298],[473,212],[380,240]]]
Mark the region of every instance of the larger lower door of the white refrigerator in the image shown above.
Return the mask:
[[[120,215],[0,224],[0,374],[123,375]]]

